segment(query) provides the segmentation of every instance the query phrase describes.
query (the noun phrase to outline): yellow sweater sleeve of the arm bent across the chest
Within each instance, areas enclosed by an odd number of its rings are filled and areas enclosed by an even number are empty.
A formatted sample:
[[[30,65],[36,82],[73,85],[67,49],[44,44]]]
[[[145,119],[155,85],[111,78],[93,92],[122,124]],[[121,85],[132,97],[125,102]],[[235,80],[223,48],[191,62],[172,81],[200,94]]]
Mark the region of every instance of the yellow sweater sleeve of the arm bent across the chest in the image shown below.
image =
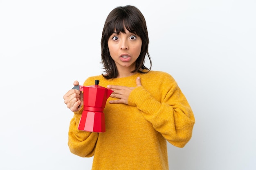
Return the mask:
[[[195,123],[193,112],[174,80],[165,80],[161,86],[161,101],[140,86],[130,93],[128,104],[136,106],[168,142],[182,148],[192,137]]]

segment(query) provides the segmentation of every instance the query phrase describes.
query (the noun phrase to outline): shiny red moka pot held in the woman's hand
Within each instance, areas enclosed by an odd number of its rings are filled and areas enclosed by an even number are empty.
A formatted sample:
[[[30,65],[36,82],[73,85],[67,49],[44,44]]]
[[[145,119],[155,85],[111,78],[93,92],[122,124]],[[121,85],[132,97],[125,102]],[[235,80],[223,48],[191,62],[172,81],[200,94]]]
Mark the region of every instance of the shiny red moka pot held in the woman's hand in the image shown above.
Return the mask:
[[[73,89],[83,91],[83,113],[78,129],[89,132],[105,132],[105,108],[108,97],[112,90],[99,86],[99,80],[95,80],[95,85],[77,85]]]

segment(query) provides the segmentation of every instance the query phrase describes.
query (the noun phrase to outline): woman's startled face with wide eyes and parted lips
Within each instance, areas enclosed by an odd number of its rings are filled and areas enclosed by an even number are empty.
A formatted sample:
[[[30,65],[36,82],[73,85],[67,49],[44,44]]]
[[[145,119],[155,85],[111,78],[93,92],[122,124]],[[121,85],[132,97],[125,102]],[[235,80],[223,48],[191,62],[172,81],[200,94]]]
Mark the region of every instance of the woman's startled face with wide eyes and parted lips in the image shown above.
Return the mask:
[[[141,52],[141,45],[141,38],[128,30],[119,35],[115,32],[109,37],[110,56],[115,61],[118,72],[135,69],[135,61]]]

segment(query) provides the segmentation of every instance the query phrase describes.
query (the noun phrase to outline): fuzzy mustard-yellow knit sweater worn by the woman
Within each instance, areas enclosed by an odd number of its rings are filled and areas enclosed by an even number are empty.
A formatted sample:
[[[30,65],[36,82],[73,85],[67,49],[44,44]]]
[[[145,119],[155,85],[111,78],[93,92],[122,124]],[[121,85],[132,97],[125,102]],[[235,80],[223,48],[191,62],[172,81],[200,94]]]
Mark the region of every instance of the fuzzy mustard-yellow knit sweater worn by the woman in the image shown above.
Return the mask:
[[[141,85],[136,87],[140,76]],[[110,104],[105,113],[106,132],[79,131],[80,111],[74,112],[68,133],[70,151],[80,157],[94,156],[92,170],[168,170],[166,140],[184,147],[191,139],[195,119],[189,103],[173,77],[150,71],[106,80],[89,77],[84,86],[121,85],[136,87],[128,105]]]

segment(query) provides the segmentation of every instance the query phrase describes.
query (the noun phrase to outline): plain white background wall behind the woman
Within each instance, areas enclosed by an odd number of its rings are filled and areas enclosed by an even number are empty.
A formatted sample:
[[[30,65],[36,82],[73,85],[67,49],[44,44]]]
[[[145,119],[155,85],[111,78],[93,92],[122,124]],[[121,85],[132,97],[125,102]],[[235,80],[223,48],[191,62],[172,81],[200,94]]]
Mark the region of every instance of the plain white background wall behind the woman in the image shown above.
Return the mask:
[[[191,141],[168,145],[170,169],[255,170],[255,0],[0,0],[0,169],[91,168],[67,146],[63,95],[101,74],[103,24],[127,4],[146,18],[152,70],[195,114]]]

